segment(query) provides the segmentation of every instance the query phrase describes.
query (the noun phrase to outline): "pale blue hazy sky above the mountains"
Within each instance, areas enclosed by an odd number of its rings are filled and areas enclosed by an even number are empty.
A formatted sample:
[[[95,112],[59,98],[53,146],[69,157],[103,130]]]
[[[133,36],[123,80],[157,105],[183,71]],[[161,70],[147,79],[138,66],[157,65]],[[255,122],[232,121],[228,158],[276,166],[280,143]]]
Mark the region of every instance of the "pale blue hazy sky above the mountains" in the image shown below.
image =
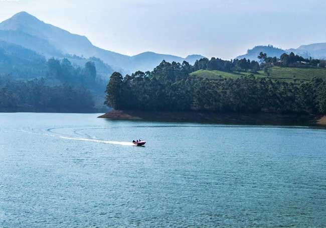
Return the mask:
[[[320,0],[0,0],[0,21],[21,11],[127,55],[231,59],[256,45],[326,42]]]

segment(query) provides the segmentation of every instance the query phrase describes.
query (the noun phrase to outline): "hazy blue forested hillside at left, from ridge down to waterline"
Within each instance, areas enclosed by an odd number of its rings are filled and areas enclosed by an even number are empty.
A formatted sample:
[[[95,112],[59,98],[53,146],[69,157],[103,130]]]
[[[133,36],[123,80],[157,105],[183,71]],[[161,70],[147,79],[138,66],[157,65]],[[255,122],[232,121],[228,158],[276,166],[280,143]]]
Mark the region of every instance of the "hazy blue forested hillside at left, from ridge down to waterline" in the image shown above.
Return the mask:
[[[86,59],[65,55],[60,59],[47,59],[22,46],[0,41],[0,76],[2,77],[0,90],[8,91],[6,94],[1,94],[0,109],[2,111],[102,111],[105,84],[112,72],[110,66],[95,57]],[[46,88],[44,91],[40,92],[38,86],[33,88],[27,86],[32,82],[36,83],[35,79],[44,81]],[[65,94],[67,97],[64,101],[60,98],[65,106],[61,108],[60,105],[53,105],[53,102],[52,106],[43,101],[38,104],[30,102],[22,95],[22,91],[15,90],[18,87],[26,94],[33,93],[31,95],[33,97],[42,93],[44,96],[42,99],[49,97],[51,99],[55,93]],[[34,88],[38,90],[33,91]],[[58,92],[59,90],[61,92]],[[90,93],[87,92],[84,97],[80,93],[82,90],[89,90]],[[89,102],[86,102],[84,107],[74,106],[76,103],[83,102],[84,98],[93,99],[95,108]],[[59,99],[58,96],[56,99]],[[70,107],[65,103],[68,101],[71,102]]]

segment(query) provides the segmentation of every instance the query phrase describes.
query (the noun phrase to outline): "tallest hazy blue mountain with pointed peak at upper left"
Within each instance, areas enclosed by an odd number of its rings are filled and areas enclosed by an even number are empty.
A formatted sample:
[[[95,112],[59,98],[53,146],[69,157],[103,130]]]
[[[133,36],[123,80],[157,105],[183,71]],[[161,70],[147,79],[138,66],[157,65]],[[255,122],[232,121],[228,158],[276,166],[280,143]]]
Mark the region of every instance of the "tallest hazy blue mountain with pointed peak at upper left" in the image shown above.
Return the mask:
[[[96,56],[111,65],[118,65],[120,62],[125,63],[123,60],[128,58],[128,56],[97,48],[85,36],[72,34],[53,25],[46,24],[26,12],[18,13],[0,23],[0,30],[3,30],[3,33],[13,33],[15,31],[20,34],[28,34],[33,37],[33,44],[36,42],[47,42],[50,47],[59,50],[61,54],[83,55],[86,58]],[[0,39],[3,39],[3,36]],[[15,39],[11,41],[12,43],[17,43]],[[20,42],[17,44],[27,47],[27,45],[30,45],[30,42],[26,40],[25,43]],[[32,47],[30,48],[38,53],[45,52],[43,46],[37,47],[33,45]],[[57,55],[54,53],[54,56],[56,57]]]

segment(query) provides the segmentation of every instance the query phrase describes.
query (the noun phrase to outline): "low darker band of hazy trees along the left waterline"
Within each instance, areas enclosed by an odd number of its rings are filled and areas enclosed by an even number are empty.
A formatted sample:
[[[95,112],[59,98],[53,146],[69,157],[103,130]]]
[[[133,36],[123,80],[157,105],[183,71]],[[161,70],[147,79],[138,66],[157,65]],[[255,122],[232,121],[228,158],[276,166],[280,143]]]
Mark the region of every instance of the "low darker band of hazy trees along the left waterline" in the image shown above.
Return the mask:
[[[93,111],[92,94],[83,87],[46,85],[44,78],[28,81],[0,77],[0,111]]]

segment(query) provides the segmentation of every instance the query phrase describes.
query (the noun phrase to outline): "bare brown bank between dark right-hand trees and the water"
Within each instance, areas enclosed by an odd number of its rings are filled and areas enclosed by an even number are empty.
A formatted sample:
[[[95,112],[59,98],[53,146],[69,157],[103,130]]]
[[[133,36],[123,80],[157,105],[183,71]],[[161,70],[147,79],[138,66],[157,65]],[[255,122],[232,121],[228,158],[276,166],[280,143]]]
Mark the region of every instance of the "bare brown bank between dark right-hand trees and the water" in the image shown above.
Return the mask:
[[[226,125],[272,125],[326,127],[326,116],[275,114],[275,113],[214,113],[191,111],[138,111],[115,110],[99,116],[110,120],[190,122]]]

